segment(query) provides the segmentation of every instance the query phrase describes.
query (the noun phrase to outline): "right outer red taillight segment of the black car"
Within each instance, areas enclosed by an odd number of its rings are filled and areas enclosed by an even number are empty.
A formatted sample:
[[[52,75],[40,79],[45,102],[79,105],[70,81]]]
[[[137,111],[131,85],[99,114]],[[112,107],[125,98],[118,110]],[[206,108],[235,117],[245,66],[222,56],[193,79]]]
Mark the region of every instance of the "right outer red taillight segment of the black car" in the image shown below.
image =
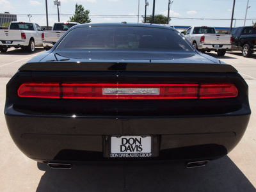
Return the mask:
[[[230,98],[237,97],[238,90],[230,84],[201,84],[200,99]]]

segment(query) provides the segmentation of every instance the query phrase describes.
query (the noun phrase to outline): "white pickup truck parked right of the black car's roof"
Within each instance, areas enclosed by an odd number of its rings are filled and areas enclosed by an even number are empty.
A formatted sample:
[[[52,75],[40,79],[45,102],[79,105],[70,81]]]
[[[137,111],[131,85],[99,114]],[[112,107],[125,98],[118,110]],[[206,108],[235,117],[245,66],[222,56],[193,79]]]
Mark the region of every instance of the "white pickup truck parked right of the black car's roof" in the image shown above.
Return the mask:
[[[224,56],[232,46],[231,35],[216,34],[215,28],[212,27],[192,26],[184,35],[200,52],[216,51],[218,56]]]

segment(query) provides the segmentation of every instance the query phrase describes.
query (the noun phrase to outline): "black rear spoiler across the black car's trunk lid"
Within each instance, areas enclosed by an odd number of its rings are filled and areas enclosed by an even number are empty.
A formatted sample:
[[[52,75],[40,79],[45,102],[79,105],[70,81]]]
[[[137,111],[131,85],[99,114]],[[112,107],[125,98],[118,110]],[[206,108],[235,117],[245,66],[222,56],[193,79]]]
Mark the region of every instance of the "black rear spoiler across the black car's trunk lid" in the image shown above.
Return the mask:
[[[127,71],[127,72],[237,72],[236,68],[227,64],[202,63],[100,63],[52,61],[26,63],[20,71]]]

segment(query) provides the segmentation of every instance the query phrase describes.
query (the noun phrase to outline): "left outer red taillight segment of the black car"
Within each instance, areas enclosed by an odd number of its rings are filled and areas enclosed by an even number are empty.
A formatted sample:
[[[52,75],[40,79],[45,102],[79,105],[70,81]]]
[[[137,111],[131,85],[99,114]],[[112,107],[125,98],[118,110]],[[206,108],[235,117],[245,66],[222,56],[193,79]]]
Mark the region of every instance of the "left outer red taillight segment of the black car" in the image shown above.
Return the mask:
[[[18,90],[19,97],[60,98],[58,83],[24,83]]]

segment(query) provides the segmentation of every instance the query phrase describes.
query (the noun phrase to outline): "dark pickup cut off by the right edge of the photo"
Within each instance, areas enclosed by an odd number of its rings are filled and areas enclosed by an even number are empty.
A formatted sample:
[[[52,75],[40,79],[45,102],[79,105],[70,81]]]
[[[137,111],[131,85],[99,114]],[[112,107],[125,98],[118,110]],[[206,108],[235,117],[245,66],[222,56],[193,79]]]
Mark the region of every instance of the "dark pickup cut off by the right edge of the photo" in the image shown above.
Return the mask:
[[[234,28],[230,34],[233,37],[232,50],[242,51],[246,58],[256,50],[256,27]]]

